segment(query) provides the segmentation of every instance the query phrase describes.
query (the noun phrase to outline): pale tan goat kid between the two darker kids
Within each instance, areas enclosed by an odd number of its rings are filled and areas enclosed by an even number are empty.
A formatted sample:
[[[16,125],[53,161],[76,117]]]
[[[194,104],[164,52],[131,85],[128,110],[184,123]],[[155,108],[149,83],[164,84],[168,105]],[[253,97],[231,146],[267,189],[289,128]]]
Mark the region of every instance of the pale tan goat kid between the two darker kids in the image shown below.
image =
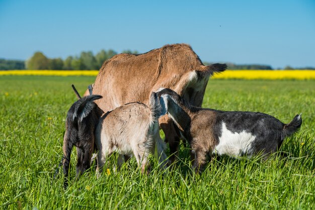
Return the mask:
[[[104,114],[95,131],[95,142],[99,150],[98,176],[114,152],[119,154],[118,168],[124,161],[124,155],[133,154],[143,173],[149,153],[154,154],[156,148],[160,166],[164,168],[167,156],[164,152],[165,143],[160,137],[159,118],[165,114],[165,106],[161,106],[155,92],[150,94],[149,106],[131,102]]]

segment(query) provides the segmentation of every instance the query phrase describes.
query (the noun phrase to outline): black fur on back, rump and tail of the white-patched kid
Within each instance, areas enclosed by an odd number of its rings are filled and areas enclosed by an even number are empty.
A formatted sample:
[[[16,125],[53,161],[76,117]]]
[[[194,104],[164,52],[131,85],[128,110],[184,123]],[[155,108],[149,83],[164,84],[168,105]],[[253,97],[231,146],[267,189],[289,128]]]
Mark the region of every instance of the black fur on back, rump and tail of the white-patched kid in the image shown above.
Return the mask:
[[[265,154],[276,152],[285,137],[295,133],[302,124],[299,115],[296,115],[291,123],[284,124],[273,116],[259,112],[212,111],[217,116],[214,125],[215,138],[218,139],[221,136],[223,122],[232,133],[241,133],[242,131],[251,133],[256,136],[252,144],[254,154],[261,151],[264,151]]]

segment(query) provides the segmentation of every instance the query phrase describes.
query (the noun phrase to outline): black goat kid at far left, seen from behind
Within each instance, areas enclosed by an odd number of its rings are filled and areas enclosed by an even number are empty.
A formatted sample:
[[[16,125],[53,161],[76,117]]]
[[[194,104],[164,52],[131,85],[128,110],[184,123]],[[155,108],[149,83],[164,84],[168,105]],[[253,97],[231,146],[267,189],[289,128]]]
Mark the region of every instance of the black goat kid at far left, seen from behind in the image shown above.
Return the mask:
[[[91,157],[94,150],[94,131],[102,116],[103,111],[94,100],[102,98],[101,95],[89,95],[75,101],[70,107],[65,123],[63,138],[64,187],[66,188],[70,155],[72,147],[76,147],[77,164],[76,179],[91,167]]]

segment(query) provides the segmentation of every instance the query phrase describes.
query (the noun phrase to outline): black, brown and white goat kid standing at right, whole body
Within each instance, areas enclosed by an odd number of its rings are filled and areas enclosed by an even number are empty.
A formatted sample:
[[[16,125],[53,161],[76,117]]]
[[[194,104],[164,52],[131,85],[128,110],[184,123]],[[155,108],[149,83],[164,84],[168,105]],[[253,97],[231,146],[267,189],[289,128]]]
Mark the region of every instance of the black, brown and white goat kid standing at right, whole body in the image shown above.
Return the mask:
[[[302,124],[301,115],[283,124],[278,119],[254,112],[224,112],[191,106],[171,89],[157,92],[165,101],[169,117],[182,139],[191,146],[193,169],[199,171],[207,155],[253,156],[270,154],[280,148],[285,137]]]

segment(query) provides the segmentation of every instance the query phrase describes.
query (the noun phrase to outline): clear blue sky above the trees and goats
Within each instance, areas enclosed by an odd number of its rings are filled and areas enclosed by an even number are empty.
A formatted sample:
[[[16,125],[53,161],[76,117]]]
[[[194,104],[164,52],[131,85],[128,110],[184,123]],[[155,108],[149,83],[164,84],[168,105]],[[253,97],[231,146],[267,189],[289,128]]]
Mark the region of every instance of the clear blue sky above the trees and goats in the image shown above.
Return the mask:
[[[0,58],[188,43],[201,60],[315,66],[315,0],[0,0]]]

